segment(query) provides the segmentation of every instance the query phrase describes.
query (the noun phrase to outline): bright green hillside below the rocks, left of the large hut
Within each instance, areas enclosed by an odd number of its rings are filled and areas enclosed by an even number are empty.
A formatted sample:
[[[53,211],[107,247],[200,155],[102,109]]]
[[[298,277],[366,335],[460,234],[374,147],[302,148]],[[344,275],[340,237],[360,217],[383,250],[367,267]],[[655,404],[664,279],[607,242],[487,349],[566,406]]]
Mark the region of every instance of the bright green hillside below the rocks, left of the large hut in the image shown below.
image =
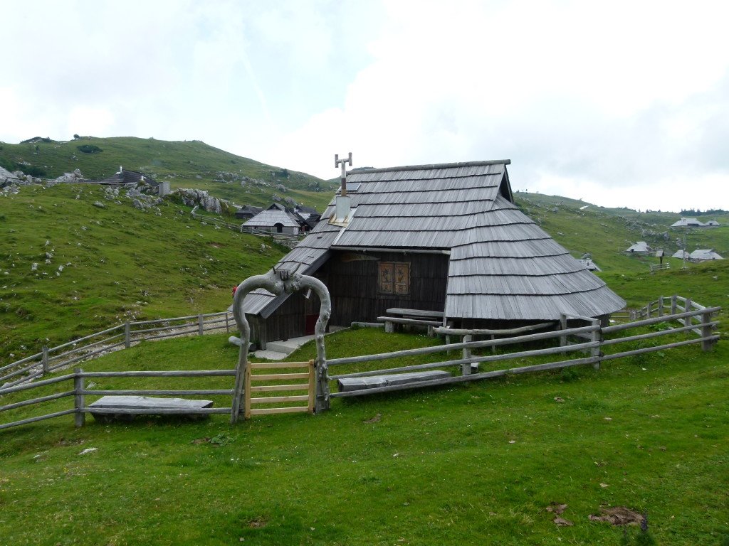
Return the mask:
[[[284,253],[182,205],[136,210],[123,193],[117,204],[101,188],[62,184],[0,197],[0,363],[130,318],[225,310],[232,285]]]

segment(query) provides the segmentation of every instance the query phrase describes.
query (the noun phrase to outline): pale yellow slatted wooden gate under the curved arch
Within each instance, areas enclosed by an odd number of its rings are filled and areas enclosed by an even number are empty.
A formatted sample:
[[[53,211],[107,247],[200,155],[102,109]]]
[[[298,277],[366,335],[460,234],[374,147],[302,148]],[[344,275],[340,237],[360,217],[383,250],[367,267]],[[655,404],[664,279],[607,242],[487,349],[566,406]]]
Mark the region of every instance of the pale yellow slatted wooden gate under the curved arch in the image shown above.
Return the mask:
[[[298,373],[270,373],[276,369],[291,368],[307,368],[306,371]],[[254,373],[257,370],[269,371],[268,373]],[[308,362],[276,362],[276,363],[249,363],[246,366],[246,386],[244,388],[244,410],[245,419],[250,419],[252,415],[267,414],[295,414],[314,412],[314,395],[315,395],[315,371],[314,360]],[[305,383],[302,380],[307,380]],[[258,381],[276,381],[276,384],[268,385],[252,385]],[[281,384],[281,381],[286,381]],[[292,383],[291,381],[296,381]],[[306,391],[305,395],[286,395],[286,396],[257,396],[253,397],[252,393],[260,392],[281,392],[281,391]],[[272,408],[269,404],[275,403],[292,403],[305,402],[307,405],[286,405]],[[263,408],[252,408],[252,405],[266,405]]]

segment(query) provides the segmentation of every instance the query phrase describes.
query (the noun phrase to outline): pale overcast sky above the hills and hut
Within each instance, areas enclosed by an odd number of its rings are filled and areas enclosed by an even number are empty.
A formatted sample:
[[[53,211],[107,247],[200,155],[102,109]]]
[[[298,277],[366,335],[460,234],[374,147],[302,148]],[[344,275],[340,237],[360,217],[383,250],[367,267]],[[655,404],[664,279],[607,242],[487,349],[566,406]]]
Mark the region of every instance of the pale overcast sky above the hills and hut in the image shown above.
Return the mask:
[[[513,189],[729,209],[729,2],[0,0],[0,141],[202,140],[335,178],[511,159]]]

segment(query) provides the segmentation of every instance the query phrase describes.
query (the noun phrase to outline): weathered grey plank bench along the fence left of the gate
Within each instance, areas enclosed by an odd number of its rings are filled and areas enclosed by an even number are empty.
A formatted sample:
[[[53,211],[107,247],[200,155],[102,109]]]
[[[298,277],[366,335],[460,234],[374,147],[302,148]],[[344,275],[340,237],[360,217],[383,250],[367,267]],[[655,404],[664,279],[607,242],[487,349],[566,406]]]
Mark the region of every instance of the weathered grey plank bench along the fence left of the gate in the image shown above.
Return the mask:
[[[89,404],[91,415],[99,422],[131,421],[135,415],[203,417],[205,414],[198,414],[195,410],[212,407],[212,400],[150,396],[103,396]]]

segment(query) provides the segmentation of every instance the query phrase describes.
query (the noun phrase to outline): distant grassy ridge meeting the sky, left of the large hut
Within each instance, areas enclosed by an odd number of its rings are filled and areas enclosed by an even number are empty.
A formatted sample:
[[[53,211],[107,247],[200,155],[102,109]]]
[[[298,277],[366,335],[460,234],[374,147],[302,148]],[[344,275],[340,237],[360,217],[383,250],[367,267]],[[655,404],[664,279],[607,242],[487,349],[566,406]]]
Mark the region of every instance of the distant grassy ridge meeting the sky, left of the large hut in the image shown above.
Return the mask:
[[[172,188],[206,189],[238,205],[270,205],[277,196],[324,210],[337,186],[305,173],[236,156],[202,141],[84,137],[74,141],[0,143],[0,166],[43,178],[57,178],[79,169],[86,178],[101,179],[116,173],[120,165],[154,175],[157,181],[168,181]]]

